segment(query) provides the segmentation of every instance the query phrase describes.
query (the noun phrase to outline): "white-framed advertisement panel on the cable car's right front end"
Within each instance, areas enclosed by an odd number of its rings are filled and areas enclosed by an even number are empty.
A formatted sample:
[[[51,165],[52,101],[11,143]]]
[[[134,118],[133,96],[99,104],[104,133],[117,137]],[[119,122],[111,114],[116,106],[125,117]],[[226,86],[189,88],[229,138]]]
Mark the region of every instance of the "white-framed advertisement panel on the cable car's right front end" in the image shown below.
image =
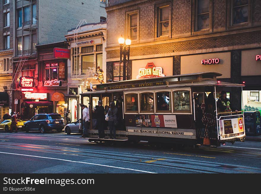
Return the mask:
[[[222,139],[244,135],[243,115],[235,115],[233,118],[221,117],[219,120],[220,135]]]

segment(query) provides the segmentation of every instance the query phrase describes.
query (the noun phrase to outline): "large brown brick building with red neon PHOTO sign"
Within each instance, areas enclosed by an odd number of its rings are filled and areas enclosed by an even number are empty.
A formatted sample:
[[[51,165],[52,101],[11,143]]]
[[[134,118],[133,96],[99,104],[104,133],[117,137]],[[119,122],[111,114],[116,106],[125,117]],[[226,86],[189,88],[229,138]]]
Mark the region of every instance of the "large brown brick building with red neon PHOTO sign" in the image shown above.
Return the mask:
[[[132,40],[127,79],[147,63],[165,76],[216,71],[221,81],[246,81],[244,104],[261,110],[260,7],[258,0],[110,0],[107,80],[119,76],[123,35]],[[240,107],[241,91],[228,92]]]

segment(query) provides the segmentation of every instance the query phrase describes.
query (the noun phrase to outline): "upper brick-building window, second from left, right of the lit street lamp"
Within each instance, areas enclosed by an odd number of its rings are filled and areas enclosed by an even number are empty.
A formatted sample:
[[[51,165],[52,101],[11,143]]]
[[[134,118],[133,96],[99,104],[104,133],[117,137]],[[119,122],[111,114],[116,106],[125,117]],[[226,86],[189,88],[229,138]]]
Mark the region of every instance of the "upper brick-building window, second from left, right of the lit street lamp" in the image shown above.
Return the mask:
[[[169,35],[169,6],[163,6],[158,8],[158,34],[157,37]]]

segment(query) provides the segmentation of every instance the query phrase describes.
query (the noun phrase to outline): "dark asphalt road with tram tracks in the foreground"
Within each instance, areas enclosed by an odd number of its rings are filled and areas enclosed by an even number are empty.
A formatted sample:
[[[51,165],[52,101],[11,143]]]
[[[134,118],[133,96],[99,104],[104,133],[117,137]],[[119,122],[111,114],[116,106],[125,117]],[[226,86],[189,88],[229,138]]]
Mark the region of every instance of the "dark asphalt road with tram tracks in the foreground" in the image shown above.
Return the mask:
[[[64,132],[0,132],[0,173],[261,173],[261,144],[171,148],[92,143]]]

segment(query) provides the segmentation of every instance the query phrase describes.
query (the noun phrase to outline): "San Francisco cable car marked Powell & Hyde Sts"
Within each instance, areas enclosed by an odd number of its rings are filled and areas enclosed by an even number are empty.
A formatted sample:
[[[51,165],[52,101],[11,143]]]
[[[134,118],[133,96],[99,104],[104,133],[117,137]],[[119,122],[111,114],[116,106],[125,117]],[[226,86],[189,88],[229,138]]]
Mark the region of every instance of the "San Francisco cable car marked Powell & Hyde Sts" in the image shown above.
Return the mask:
[[[94,86],[95,91],[81,94],[90,106],[89,141],[98,139],[96,119],[92,113],[98,100],[103,106],[114,101],[119,125],[115,141],[149,141],[192,146],[220,146],[225,142],[244,141],[244,113],[218,112],[221,91],[232,91],[243,84],[217,81],[215,72],[117,81]],[[211,103],[207,100],[212,97]],[[212,111],[206,113],[206,103]],[[241,107],[240,107],[241,108]]]

